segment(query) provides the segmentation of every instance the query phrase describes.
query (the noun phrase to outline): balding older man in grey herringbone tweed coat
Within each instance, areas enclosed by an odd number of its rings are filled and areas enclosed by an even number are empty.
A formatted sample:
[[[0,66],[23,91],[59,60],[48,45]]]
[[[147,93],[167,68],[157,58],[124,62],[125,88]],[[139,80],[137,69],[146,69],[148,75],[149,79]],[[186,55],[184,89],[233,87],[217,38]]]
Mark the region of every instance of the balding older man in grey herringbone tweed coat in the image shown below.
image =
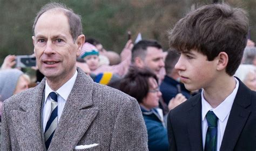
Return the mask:
[[[46,4],[33,24],[44,80],[4,102],[3,150],[147,150],[139,105],[76,68],[85,37],[78,15]]]

